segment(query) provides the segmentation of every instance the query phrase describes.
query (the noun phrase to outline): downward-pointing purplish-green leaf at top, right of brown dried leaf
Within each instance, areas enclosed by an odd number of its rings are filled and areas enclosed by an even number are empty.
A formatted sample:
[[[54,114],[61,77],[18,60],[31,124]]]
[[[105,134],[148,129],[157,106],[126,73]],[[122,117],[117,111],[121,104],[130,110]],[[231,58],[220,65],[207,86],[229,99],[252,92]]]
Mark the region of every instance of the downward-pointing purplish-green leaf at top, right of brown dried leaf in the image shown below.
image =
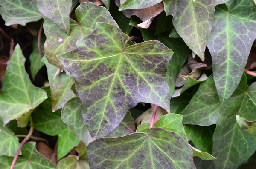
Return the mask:
[[[192,51],[204,61],[204,51],[214,22],[215,6],[229,0],[163,0],[166,15]]]

